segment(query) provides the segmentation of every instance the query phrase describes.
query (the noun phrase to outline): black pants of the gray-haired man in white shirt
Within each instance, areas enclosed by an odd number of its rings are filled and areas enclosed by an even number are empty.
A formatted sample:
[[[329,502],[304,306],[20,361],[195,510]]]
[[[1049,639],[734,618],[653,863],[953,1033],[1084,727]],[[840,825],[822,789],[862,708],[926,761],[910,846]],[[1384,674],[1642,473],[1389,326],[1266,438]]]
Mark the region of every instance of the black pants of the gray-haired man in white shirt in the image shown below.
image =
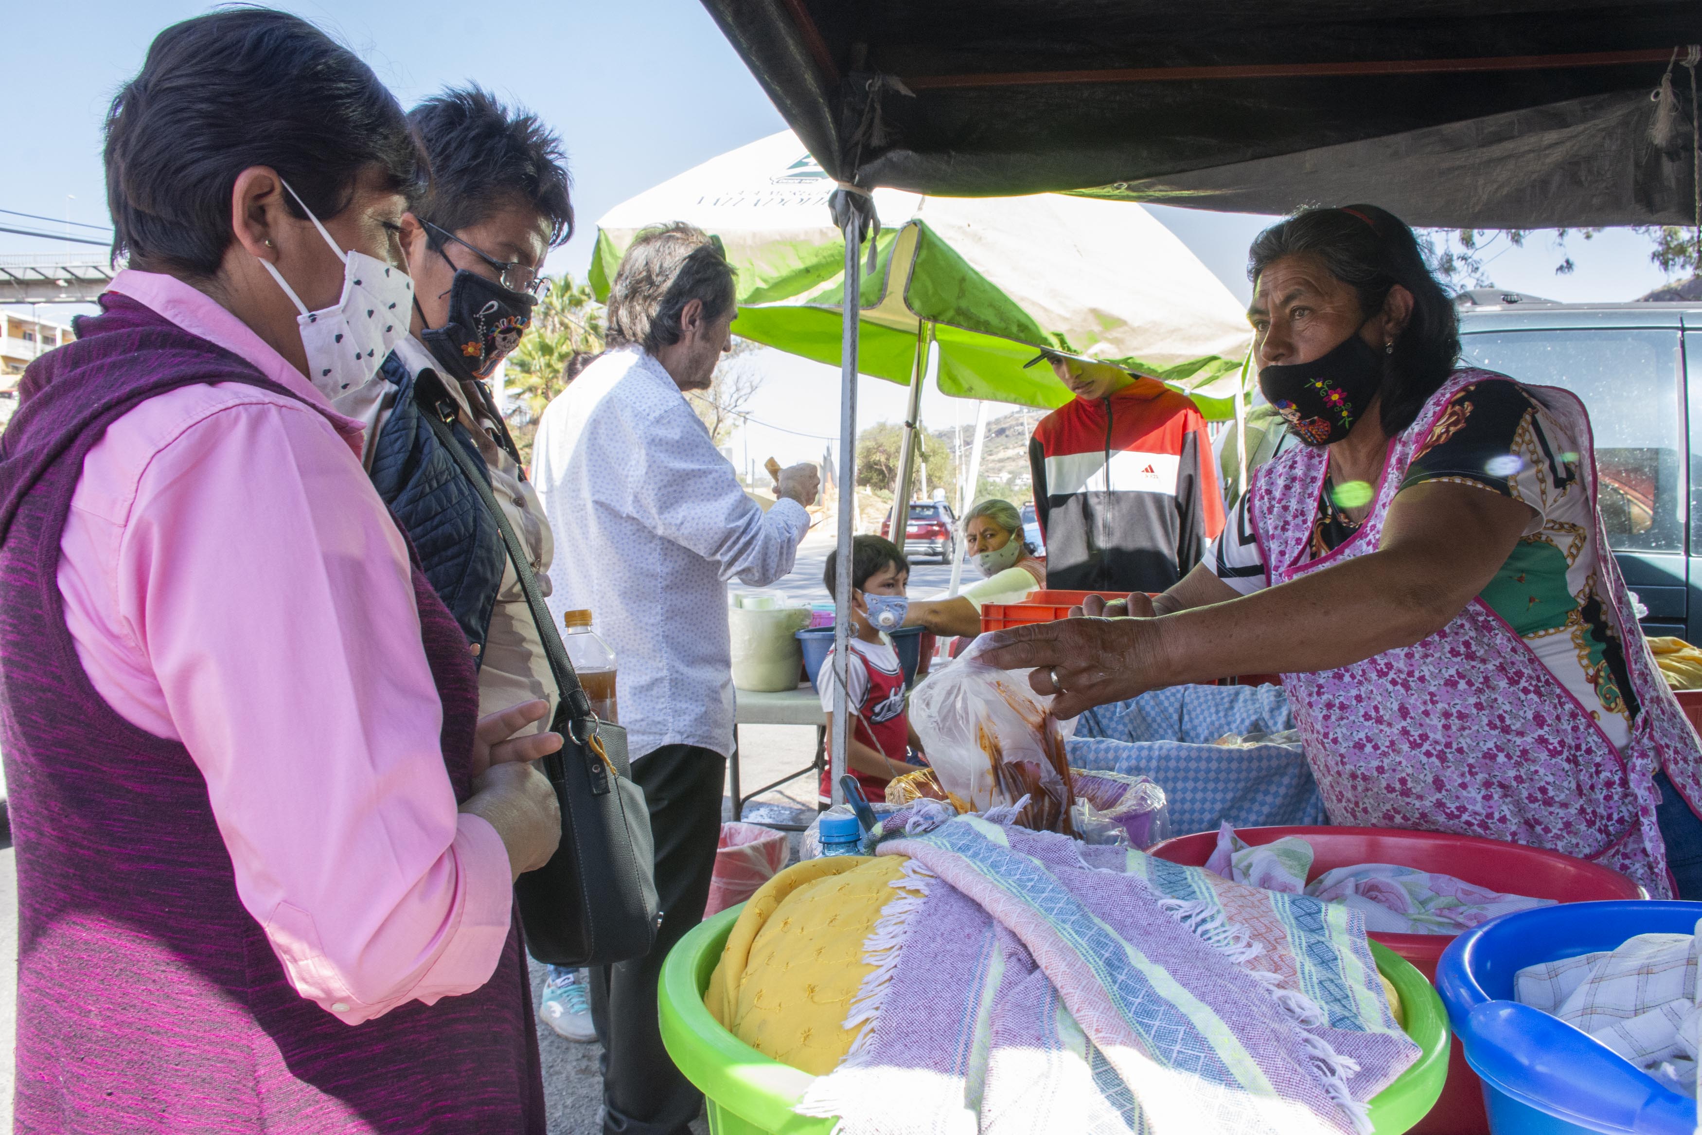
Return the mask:
[[[662,929],[643,958],[591,972],[591,1021],[603,1041],[603,1130],[608,1135],[684,1135],[703,1092],[662,1048],[657,982],[662,960],[703,921],[722,834],[727,757],[696,745],[662,745],[633,761],[650,803],[655,892]]]

